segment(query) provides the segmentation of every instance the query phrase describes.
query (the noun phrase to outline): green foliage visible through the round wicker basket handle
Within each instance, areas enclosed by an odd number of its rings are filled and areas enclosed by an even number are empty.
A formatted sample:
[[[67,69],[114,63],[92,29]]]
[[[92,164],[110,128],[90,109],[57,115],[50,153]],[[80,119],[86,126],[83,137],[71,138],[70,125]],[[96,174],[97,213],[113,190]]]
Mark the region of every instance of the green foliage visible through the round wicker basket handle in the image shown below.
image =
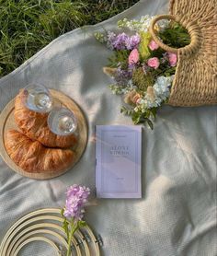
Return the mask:
[[[177,22],[170,22],[168,29],[159,32],[159,37],[168,46],[181,48],[190,43],[188,30]]]

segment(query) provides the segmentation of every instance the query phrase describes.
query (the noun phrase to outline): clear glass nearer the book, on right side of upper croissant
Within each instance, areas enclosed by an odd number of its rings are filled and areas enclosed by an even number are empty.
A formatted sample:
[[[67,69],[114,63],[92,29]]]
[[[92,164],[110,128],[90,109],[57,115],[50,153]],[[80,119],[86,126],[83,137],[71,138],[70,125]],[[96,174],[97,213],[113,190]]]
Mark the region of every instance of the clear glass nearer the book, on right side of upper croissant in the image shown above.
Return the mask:
[[[48,116],[48,126],[53,134],[77,134],[77,120],[73,111],[55,107]]]

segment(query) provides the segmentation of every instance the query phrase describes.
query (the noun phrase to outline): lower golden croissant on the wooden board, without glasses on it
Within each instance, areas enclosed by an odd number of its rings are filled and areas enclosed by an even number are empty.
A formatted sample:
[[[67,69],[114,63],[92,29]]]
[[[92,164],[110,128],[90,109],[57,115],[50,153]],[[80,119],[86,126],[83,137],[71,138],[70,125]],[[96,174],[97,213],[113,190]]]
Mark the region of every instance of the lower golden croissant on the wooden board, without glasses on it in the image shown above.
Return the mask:
[[[67,169],[74,161],[74,151],[47,148],[15,130],[6,133],[6,151],[21,169],[27,172],[57,172]]]

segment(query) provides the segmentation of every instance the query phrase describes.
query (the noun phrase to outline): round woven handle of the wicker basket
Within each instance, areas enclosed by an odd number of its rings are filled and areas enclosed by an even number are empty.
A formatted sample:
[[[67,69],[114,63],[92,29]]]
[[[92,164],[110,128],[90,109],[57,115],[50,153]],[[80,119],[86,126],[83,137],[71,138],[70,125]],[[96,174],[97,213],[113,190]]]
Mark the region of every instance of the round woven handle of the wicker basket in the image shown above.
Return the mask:
[[[170,47],[170,46],[166,45],[165,43],[163,43],[162,41],[160,41],[159,38],[155,34],[154,26],[155,26],[156,22],[161,19],[173,19],[177,23],[181,24],[184,28],[188,29],[188,33],[189,33],[190,39],[191,39],[190,44],[186,45],[185,47],[177,49],[177,48]],[[197,24],[195,24],[193,22],[185,22],[185,21],[183,22],[183,20],[180,17],[175,17],[173,15],[159,15],[159,16],[154,17],[154,19],[152,20],[151,26],[149,28],[149,31],[150,31],[154,41],[166,52],[177,53],[177,51],[181,49],[185,52],[192,53],[192,52],[195,52],[195,50],[200,45],[199,28],[198,28]]]

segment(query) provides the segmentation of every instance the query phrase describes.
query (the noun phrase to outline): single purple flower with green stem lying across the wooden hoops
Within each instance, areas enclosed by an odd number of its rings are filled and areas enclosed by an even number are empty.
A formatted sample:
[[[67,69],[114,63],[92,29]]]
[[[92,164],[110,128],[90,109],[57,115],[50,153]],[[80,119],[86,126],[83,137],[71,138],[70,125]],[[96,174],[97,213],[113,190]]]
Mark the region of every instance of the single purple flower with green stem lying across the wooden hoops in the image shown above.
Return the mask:
[[[67,189],[66,202],[62,209],[63,228],[68,241],[67,256],[71,255],[71,243],[74,233],[79,227],[86,226],[83,217],[89,194],[90,189],[81,185],[75,184]]]

